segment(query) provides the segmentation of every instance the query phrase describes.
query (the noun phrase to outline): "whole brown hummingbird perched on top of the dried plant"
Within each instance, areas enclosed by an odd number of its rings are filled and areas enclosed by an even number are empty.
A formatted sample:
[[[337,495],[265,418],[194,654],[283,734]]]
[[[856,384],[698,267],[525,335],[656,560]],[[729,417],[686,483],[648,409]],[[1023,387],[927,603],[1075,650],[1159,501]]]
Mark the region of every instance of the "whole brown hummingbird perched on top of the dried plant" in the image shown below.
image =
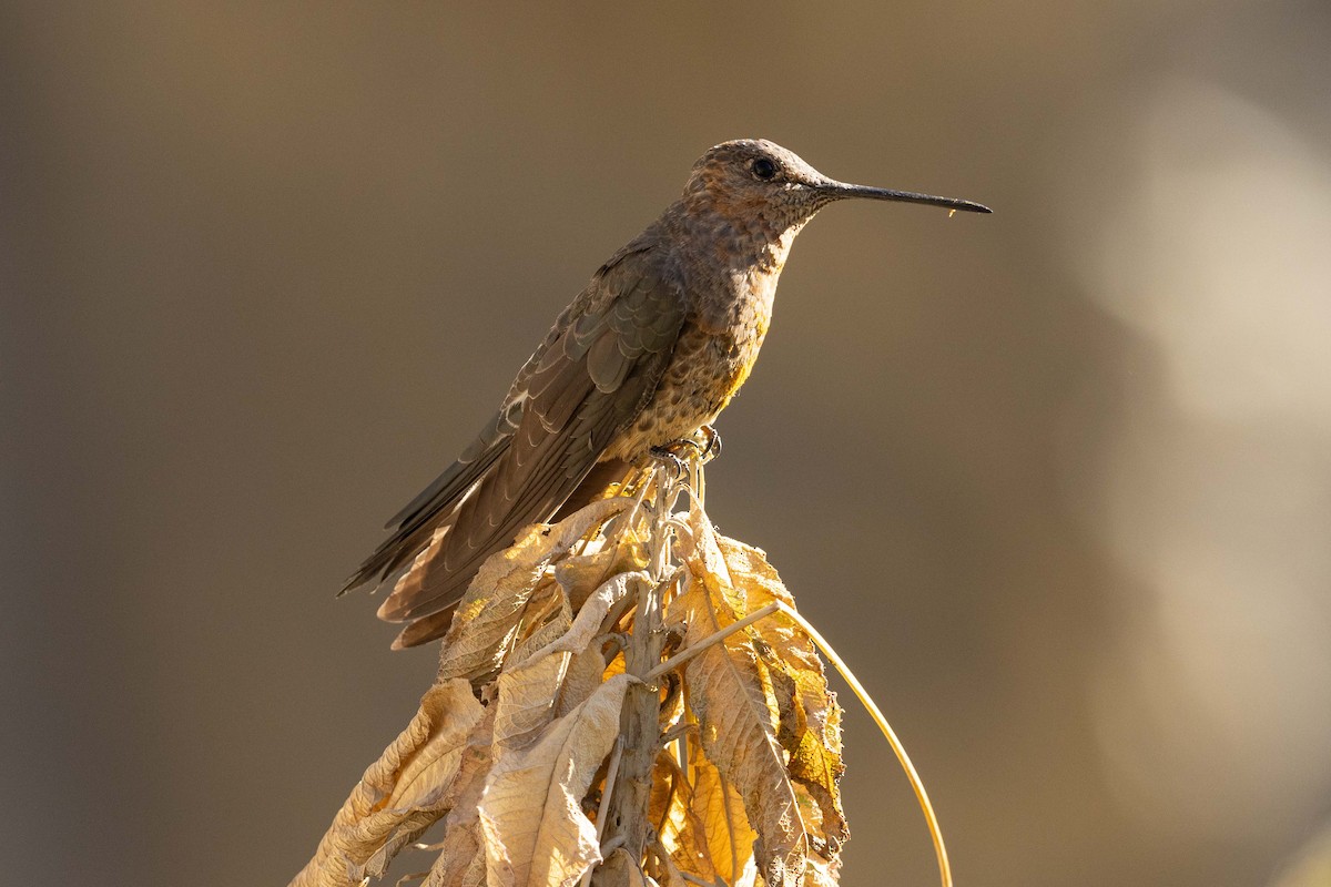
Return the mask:
[[[586,504],[654,447],[712,423],[744,384],[791,242],[832,201],[978,203],[847,185],[760,140],[723,142],[683,195],[616,253],[555,320],[457,463],[389,521],[343,590],[425,552],[383,601],[394,646],[442,636],[482,561],[524,525]]]

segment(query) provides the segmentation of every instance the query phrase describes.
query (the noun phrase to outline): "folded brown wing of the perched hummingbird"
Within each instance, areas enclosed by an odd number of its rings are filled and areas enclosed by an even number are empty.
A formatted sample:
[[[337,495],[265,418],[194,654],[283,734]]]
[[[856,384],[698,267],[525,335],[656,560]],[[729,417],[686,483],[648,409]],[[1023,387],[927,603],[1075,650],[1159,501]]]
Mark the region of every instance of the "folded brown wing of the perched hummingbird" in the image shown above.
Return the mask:
[[[379,616],[415,620],[451,606],[486,557],[522,527],[548,519],[642,412],[683,319],[679,287],[651,273],[642,255],[598,274],[515,382],[494,426],[503,434],[488,444],[483,435],[466,463],[403,511],[398,533],[381,547],[393,555],[377,553],[378,561],[399,565],[429,553]]]

